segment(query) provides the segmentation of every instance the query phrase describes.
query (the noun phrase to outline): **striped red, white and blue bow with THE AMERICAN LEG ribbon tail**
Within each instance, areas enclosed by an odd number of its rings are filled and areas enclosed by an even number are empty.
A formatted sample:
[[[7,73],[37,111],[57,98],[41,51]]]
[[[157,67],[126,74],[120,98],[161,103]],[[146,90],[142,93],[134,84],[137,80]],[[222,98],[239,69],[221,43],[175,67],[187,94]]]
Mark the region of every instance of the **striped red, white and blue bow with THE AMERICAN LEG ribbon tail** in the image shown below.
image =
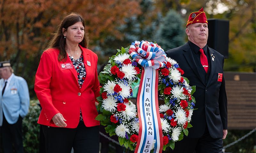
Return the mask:
[[[129,53],[142,68],[140,87],[137,96],[137,109],[140,122],[139,138],[135,153],[154,153],[163,149],[163,133],[158,108],[158,68],[166,64],[164,50],[153,42],[135,41]]]

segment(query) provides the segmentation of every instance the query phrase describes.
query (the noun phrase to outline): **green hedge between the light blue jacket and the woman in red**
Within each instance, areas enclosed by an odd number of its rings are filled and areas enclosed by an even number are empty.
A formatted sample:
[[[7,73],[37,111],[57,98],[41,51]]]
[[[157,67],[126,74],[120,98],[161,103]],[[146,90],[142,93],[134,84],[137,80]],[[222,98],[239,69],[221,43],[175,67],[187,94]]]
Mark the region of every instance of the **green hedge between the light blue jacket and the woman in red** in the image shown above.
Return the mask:
[[[23,119],[23,147],[25,153],[39,153],[40,125],[37,120],[40,114],[38,100],[31,100],[27,116]]]

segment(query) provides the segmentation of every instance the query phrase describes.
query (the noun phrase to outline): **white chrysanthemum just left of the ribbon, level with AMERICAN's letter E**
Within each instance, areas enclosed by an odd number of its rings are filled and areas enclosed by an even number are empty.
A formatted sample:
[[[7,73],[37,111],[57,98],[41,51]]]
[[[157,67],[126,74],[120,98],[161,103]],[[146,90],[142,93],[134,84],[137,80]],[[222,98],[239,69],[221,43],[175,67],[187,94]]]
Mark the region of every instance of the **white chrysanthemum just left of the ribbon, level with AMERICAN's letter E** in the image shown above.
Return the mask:
[[[133,103],[124,103],[125,111],[121,111],[122,118],[125,120],[131,120],[136,117],[136,106]]]

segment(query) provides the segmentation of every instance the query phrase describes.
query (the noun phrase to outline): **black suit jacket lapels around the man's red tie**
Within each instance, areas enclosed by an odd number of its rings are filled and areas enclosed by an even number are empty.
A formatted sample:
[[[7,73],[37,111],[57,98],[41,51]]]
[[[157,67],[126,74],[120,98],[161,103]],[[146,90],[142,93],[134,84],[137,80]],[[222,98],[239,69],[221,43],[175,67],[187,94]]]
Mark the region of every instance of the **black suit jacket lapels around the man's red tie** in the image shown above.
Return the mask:
[[[207,49],[209,50],[210,55],[211,54],[214,55],[214,51],[210,47],[207,46]],[[193,58],[192,50],[190,49],[188,42],[183,46],[183,51],[184,51],[183,55],[186,58],[190,68],[193,70],[193,72],[196,74],[196,76],[199,78],[199,80],[201,80],[201,82],[205,85],[205,83],[197,69],[196,62]],[[209,79],[206,84],[206,87],[209,85],[210,80],[212,79],[212,76],[213,76],[213,73],[215,70],[215,66],[216,66],[216,62],[217,62],[216,59],[214,61],[210,60],[210,66],[211,66],[210,67],[210,75],[209,75]]]

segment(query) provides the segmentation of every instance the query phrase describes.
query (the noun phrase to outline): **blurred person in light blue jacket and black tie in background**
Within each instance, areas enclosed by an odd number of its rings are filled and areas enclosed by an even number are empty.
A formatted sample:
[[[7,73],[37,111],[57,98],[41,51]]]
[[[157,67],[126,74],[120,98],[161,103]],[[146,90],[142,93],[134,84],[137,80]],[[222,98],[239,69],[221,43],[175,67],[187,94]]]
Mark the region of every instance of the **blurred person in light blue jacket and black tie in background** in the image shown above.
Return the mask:
[[[1,148],[4,153],[23,153],[22,119],[28,114],[28,84],[13,74],[9,61],[0,62],[0,78]]]

